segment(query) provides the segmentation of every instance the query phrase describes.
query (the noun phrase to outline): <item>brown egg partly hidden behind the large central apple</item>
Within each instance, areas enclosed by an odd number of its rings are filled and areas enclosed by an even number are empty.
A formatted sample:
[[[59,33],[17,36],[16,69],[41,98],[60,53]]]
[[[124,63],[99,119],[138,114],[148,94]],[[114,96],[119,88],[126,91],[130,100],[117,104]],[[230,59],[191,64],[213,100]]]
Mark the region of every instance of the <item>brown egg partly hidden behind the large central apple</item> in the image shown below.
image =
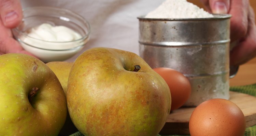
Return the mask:
[[[168,84],[171,91],[171,111],[180,108],[188,100],[191,94],[191,85],[187,77],[181,72],[171,68],[154,68]]]

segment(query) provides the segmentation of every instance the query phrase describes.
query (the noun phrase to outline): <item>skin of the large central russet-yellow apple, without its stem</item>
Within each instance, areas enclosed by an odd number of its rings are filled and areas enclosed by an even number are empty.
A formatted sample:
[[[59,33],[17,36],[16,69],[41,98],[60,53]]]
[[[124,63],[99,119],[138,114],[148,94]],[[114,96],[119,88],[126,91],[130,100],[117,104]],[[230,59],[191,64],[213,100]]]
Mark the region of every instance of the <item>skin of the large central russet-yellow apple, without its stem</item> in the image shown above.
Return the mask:
[[[133,72],[134,65],[140,65]],[[170,113],[165,80],[137,54],[91,48],[74,62],[67,89],[68,111],[89,136],[156,136]]]

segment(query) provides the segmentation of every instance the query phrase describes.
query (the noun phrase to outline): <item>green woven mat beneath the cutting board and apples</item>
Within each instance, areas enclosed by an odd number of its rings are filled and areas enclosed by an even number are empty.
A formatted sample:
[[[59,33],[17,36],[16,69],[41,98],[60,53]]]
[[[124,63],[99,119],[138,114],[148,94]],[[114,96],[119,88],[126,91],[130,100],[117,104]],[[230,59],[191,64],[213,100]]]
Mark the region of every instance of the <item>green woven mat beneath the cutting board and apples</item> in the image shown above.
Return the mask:
[[[241,92],[256,97],[256,84],[245,86],[231,86],[230,91]],[[76,132],[70,136],[84,136],[80,132]],[[158,136],[189,136],[189,135],[158,135]],[[256,125],[246,128],[244,136],[256,136]]]

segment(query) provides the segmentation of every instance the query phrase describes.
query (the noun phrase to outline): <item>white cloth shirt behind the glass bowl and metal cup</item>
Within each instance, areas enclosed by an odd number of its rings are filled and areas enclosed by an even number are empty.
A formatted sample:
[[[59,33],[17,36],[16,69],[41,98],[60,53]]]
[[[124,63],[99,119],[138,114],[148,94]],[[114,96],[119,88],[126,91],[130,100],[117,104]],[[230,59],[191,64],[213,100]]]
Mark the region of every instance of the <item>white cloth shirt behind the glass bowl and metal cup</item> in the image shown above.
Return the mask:
[[[91,37],[85,48],[68,59],[72,62],[89,48],[111,47],[139,55],[139,20],[164,0],[21,0],[31,6],[62,7],[83,16],[91,24]]]

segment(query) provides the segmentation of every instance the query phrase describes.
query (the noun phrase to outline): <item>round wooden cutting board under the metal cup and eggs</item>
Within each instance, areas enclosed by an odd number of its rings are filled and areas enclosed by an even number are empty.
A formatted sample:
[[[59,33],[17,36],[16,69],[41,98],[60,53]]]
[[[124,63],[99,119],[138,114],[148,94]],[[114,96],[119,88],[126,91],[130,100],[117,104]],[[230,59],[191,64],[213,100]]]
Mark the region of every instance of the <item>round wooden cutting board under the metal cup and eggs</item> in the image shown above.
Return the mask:
[[[237,104],[244,113],[246,127],[256,124],[256,97],[230,91],[230,101]],[[181,107],[172,111],[159,134],[189,134],[188,122],[194,109],[195,107]]]

